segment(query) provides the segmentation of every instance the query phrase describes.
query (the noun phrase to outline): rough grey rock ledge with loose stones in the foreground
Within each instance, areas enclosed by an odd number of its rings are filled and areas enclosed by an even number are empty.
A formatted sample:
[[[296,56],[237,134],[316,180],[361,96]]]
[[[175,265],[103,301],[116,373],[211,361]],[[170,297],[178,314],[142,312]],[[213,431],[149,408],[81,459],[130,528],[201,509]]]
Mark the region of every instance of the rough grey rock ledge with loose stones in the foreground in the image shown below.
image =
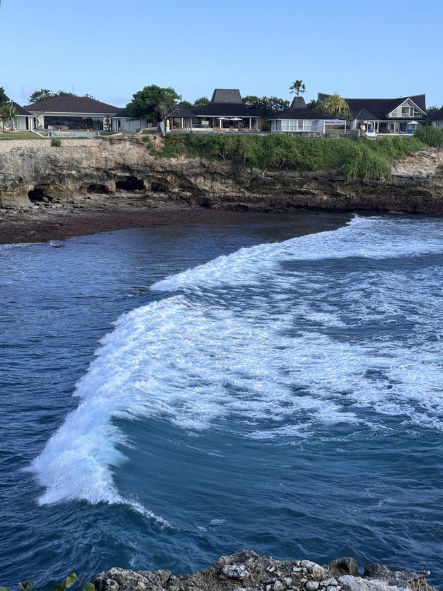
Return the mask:
[[[430,573],[390,571],[377,563],[363,574],[354,558],[338,558],[329,565],[278,561],[242,550],[221,556],[208,570],[174,576],[169,570],[134,572],[114,567],[94,579],[97,591],[436,591]]]

